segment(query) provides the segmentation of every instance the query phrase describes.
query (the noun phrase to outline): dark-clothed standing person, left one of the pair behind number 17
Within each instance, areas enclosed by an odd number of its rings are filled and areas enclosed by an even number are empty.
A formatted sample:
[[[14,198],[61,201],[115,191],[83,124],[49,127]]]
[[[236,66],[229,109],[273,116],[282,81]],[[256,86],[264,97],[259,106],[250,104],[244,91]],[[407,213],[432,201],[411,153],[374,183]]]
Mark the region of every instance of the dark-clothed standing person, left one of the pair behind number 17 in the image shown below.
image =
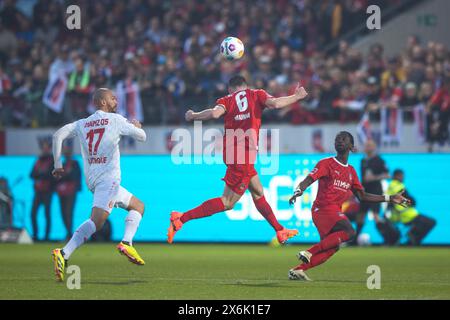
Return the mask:
[[[37,214],[41,205],[44,205],[46,228],[44,240],[48,241],[51,229],[51,201],[54,191],[54,179],[52,176],[53,156],[50,138],[44,138],[39,141],[41,155],[33,166],[31,179],[34,180],[34,199],[31,208],[31,223],[33,225],[33,240],[38,240]]]

